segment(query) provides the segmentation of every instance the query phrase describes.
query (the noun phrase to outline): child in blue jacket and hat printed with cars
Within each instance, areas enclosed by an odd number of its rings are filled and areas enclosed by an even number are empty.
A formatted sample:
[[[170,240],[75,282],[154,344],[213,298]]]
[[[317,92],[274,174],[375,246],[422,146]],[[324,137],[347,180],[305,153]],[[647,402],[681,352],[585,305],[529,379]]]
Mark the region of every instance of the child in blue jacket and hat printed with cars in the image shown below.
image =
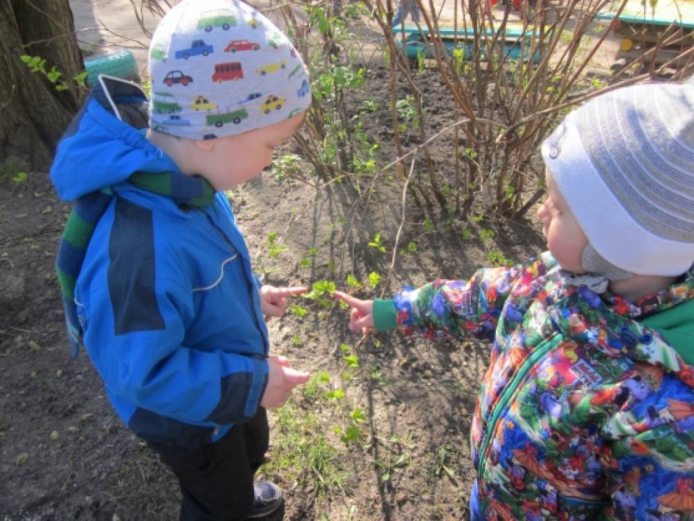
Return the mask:
[[[270,354],[265,319],[307,288],[257,280],[225,191],[301,127],[307,71],[250,6],[183,0],[153,35],[149,72],[149,129],[144,92],[101,76],[51,169],[76,201],[57,262],[71,340],[176,474],[182,520],[277,515],[281,490],[253,481],[265,408],[309,374]]]

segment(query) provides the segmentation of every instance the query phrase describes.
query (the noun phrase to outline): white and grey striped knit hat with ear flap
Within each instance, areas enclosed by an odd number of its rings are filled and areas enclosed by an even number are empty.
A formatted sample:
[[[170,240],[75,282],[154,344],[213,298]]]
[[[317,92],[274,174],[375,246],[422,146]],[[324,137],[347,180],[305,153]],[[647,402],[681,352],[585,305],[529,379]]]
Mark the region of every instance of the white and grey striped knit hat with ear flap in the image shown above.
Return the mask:
[[[607,92],[566,116],[541,150],[605,261],[643,275],[676,276],[691,267],[694,83]]]

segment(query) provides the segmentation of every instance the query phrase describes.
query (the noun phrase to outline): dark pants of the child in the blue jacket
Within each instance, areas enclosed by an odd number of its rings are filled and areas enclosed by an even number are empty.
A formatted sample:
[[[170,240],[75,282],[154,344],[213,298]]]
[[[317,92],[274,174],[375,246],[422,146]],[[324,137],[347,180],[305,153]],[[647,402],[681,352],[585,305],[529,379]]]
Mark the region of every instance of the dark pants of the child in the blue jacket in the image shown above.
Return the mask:
[[[253,475],[269,442],[264,408],[216,443],[196,449],[148,443],[174,471],[183,499],[180,521],[241,521],[253,506]]]

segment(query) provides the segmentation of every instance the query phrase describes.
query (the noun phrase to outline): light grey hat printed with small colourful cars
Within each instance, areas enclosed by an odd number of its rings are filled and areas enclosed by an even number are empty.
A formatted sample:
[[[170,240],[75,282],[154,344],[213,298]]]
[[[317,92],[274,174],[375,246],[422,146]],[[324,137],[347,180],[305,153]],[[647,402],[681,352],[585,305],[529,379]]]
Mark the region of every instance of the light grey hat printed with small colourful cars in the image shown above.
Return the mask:
[[[149,48],[150,128],[192,140],[281,122],[311,104],[307,69],[275,24],[238,0],[183,0]]]

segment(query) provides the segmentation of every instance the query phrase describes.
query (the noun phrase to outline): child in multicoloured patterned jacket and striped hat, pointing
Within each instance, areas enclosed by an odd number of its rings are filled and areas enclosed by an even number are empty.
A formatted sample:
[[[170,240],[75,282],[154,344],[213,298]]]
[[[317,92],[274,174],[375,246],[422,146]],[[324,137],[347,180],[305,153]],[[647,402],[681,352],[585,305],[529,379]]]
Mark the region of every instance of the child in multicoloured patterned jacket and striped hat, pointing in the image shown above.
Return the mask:
[[[549,251],[366,301],[350,329],[493,342],[471,519],[694,516],[694,84],[637,85],[542,146]]]

